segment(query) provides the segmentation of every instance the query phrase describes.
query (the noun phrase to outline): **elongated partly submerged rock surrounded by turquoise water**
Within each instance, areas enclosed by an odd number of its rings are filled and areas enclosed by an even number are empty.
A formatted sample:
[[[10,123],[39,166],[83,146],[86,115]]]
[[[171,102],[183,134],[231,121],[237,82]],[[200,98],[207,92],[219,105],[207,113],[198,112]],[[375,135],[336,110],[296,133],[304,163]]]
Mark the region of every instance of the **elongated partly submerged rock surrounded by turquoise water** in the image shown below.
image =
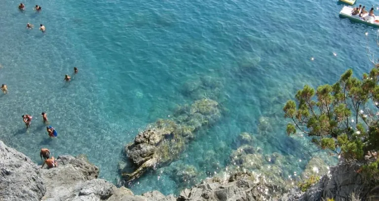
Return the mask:
[[[203,99],[180,108],[173,119],[159,119],[148,125],[134,142],[125,146],[126,157],[135,168],[131,173],[124,168],[122,176],[126,181],[132,181],[148,169],[171,163],[185,150],[196,131],[215,123],[220,116],[218,103]]]

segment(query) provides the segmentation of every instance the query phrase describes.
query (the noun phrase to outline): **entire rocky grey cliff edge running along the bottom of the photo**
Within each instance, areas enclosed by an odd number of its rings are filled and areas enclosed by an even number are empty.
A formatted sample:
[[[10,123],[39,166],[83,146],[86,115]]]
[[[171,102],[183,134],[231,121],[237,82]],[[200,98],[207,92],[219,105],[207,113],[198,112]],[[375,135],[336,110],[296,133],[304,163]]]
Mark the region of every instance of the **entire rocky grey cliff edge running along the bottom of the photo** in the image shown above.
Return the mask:
[[[376,195],[365,191],[364,180],[352,164],[333,167],[329,176],[305,193],[292,190],[284,195],[277,191],[275,194],[277,187],[257,179],[255,174],[235,172],[225,179],[207,178],[174,197],[158,191],[136,196],[125,187],[117,188],[98,179],[98,167],[84,157],[59,156],[57,161],[58,167],[40,168],[0,141],[0,201],[318,201],[322,198],[340,201],[351,200],[354,192],[361,198]]]

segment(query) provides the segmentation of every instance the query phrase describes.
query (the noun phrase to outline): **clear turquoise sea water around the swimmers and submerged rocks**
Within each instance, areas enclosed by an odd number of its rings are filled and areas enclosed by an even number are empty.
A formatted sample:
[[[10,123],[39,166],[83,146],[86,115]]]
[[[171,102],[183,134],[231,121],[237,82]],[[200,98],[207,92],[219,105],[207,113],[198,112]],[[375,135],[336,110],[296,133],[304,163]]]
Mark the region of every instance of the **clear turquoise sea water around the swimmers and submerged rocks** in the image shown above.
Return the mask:
[[[301,158],[312,149],[286,136],[283,104],[305,83],[333,83],[350,67],[368,71],[364,33],[370,41],[377,33],[339,18],[343,5],[334,0],[28,0],[25,12],[18,4],[0,1],[0,82],[9,89],[0,95],[0,139],[36,162],[41,147],[54,156],[86,154],[110,181],[123,144],[139,129],[201,97],[217,98],[227,112],[198,134],[183,163],[210,175],[201,164],[213,150],[225,167],[233,140],[258,134],[260,117],[273,126],[265,153]],[[28,22],[34,30],[25,29]],[[79,73],[64,83],[74,66]],[[211,87],[189,93],[186,86],[201,79],[213,80]],[[42,111],[58,138],[45,134]],[[25,113],[34,116],[28,131]],[[178,188],[159,169],[131,187],[137,194]]]

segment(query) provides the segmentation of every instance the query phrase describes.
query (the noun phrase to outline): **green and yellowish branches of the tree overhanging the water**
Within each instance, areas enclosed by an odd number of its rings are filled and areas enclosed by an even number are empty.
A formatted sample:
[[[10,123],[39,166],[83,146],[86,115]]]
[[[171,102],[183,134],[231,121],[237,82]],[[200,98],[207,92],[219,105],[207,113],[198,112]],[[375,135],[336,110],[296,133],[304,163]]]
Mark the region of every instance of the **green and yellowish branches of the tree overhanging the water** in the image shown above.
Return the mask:
[[[362,80],[346,70],[338,82],[314,90],[305,85],[288,100],[283,111],[292,119],[287,134],[299,130],[322,149],[345,159],[361,160],[379,147],[379,65]]]

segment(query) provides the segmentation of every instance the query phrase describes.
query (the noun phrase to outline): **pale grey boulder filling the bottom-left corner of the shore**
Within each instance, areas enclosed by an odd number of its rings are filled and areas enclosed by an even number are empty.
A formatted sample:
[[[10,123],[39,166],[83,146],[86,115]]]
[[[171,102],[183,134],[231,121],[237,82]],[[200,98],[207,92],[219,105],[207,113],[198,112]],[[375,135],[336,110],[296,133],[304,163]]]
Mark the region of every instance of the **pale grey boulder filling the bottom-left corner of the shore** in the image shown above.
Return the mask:
[[[0,201],[39,201],[46,192],[38,167],[0,141]]]

